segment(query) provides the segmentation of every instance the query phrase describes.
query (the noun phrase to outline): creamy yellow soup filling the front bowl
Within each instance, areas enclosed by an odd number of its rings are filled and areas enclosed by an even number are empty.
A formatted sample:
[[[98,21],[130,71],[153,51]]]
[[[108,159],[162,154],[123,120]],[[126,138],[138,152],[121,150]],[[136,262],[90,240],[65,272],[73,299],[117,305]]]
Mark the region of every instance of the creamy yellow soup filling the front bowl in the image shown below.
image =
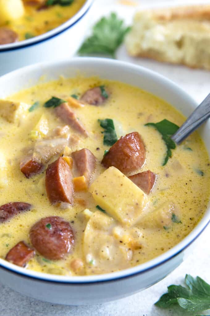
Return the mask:
[[[107,172],[101,160],[109,146],[103,144],[104,130],[98,119],[113,119],[118,138],[133,131],[139,132],[145,144],[146,160],[143,167],[135,173],[150,170],[157,177],[152,191],[149,194],[142,193],[146,199],[145,207],[139,210],[138,220],[131,225],[118,221],[107,210],[104,213],[97,209],[96,205],[99,203],[94,199],[91,189],[75,192],[73,206],[53,205],[46,195],[45,170],[30,179],[20,172],[19,160],[26,149],[32,148],[36,143],[37,139],[32,137],[34,135],[31,130],[34,130],[41,116],[44,114],[48,121],[48,134],[57,126],[66,125],[56,117],[53,108],[46,108],[43,104],[52,96],[63,100],[71,95],[79,98],[89,88],[102,85],[110,93],[104,104],[85,104],[80,108],[73,108],[79,122],[83,123],[88,132],[88,137],[85,138],[70,126],[71,135],[76,139],[69,145],[70,151],[87,148],[96,157],[97,166],[92,186]],[[184,116],[164,100],[121,82],[82,76],[73,79],[61,77],[57,81],[38,84],[8,97],[8,100],[24,102],[28,106],[38,101],[39,106],[31,112],[26,106],[24,115],[21,114],[16,123],[0,118],[0,205],[9,202],[32,204],[31,210],[0,224],[1,258],[5,258],[8,251],[21,240],[32,247],[29,232],[34,223],[47,216],[60,216],[71,224],[75,233],[71,252],[64,259],[48,260],[36,251],[36,255],[26,266],[27,269],[61,275],[117,271],[144,263],[171,249],[190,233],[205,213],[209,199],[210,168],[207,150],[198,133],[194,132],[172,150],[172,157],[162,166],[166,154],[165,143],[155,128],[145,126],[148,122],[156,123],[163,119],[179,126],[184,122]],[[47,139],[48,134],[43,139]],[[54,156],[45,168],[58,157],[59,155]],[[108,170],[112,172],[112,169]],[[128,194],[132,194],[129,192],[130,182],[126,191]],[[113,192],[116,186],[117,181],[115,187],[113,185]],[[100,190],[100,183],[98,188]],[[127,203],[126,196],[121,197],[122,200],[125,199],[122,201],[124,204]],[[115,198],[118,203],[118,196]],[[169,213],[173,220],[169,216],[169,224],[166,226],[161,223],[160,213],[167,212],[170,207],[173,208],[173,214]],[[163,218],[164,216],[163,214]],[[78,259],[78,267],[74,264],[75,259]]]

